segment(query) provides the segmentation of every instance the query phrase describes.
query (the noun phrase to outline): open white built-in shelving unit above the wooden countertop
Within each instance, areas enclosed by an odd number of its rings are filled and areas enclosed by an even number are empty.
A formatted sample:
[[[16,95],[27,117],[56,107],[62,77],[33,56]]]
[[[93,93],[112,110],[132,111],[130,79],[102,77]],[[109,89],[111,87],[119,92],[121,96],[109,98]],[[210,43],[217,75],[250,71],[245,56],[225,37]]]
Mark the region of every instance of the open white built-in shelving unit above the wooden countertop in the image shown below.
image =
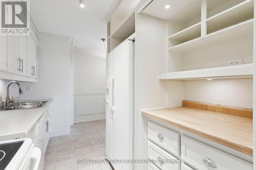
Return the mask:
[[[168,22],[170,72],[161,74],[160,80],[252,78],[253,0],[169,3],[170,10],[160,9],[166,4],[160,0],[142,10]],[[230,53],[239,48],[241,56]],[[230,66],[233,59],[244,63]]]

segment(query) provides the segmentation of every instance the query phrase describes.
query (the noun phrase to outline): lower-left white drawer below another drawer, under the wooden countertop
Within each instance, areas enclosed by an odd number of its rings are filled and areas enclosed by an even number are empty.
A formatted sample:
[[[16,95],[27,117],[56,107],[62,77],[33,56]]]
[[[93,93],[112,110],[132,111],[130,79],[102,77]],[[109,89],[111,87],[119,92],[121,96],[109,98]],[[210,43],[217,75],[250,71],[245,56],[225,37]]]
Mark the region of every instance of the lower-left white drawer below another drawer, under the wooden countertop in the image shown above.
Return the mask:
[[[152,143],[151,141],[147,141],[147,157],[148,159],[152,160],[173,160],[176,161],[176,163],[166,163],[163,162],[160,164],[160,162],[156,162],[156,165],[162,169],[162,170],[179,170],[180,169],[180,161],[175,158],[173,155],[170,155],[160,147],[158,147],[156,144]],[[178,162],[178,163],[177,163]]]

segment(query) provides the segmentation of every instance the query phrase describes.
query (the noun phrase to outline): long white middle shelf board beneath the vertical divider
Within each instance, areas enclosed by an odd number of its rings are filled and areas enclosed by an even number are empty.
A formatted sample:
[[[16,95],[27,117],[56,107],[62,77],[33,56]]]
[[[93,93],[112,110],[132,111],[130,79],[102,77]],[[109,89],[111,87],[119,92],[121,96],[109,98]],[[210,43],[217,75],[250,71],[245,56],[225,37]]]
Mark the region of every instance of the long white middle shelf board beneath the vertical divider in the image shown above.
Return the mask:
[[[184,53],[195,48],[217,44],[228,39],[247,36],[253,33],[253,19],[238,23],[237,25],[225,28],[223,30],[199,37],[179,45],[169,47],[170,52]]]

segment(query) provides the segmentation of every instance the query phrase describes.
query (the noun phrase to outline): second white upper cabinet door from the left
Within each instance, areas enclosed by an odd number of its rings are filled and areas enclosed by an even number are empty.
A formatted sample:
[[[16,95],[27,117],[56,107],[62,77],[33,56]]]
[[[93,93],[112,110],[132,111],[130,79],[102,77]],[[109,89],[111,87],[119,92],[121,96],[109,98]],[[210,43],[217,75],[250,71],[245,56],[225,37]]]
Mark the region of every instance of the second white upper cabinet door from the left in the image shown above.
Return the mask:
[[[18,74],[20,70],[20,62],[18,56],[18,36],[7,36],[7,71]]]

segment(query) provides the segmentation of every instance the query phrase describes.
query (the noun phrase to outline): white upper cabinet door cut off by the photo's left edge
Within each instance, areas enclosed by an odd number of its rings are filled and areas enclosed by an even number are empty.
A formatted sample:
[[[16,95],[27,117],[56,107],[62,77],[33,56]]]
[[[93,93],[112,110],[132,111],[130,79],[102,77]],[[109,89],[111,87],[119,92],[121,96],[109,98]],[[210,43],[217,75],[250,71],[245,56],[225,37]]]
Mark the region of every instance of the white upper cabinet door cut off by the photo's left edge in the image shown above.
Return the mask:
[[[7,70],[7,36],[0,36],[0,70]]]

